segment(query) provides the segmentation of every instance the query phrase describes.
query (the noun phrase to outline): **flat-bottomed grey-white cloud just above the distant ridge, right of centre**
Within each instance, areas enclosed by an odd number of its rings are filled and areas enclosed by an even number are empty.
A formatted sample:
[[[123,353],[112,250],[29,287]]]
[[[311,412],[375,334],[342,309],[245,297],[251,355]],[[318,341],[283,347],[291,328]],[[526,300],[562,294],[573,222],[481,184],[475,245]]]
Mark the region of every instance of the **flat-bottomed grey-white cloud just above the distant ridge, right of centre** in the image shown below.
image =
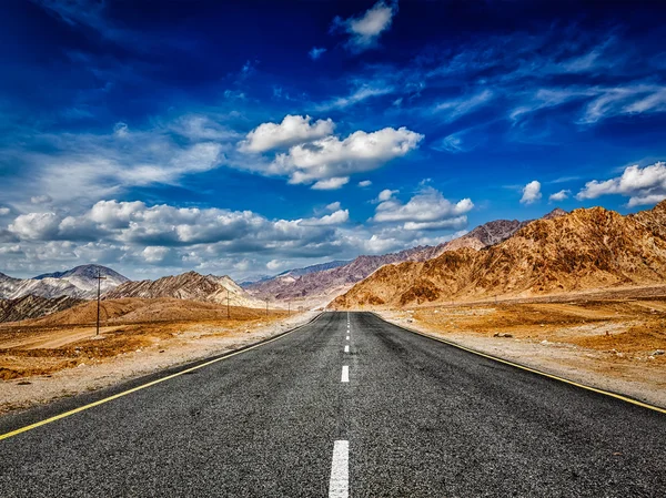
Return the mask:
[[[374,222],[401,223],[410,231],[461,228],[467,224],[466,213],[474,207],[470,199],[452,203],[433,187],[423,189],[405,204],[394,193],[390,190],[380,193]]]

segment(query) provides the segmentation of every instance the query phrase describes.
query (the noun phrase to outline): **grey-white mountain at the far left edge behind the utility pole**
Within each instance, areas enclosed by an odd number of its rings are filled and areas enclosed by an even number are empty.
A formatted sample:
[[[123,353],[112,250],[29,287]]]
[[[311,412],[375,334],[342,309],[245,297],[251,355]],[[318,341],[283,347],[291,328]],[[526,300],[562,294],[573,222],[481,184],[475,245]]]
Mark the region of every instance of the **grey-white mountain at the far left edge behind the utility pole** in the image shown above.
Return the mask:
[[[47,298],[69,296],[90,299],[97,296],[100,274],[102,292],[128,282],[128,278],[101,265],[82,265],[65,272],[47,273],[34,278],[12,278],[0,274],[0,298],[14,299],[27,295]]]

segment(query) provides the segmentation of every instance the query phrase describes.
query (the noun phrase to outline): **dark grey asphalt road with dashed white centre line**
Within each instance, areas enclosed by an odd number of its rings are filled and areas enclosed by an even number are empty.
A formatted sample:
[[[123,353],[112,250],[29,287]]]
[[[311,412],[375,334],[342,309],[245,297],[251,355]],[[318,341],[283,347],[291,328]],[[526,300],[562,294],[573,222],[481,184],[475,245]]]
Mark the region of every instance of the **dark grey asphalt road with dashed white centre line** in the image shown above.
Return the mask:
[[[0,434],[108,394],[2,417]],[[325,313],[1,440],[0,496],[662,497],[665,441],[666,415]]]

